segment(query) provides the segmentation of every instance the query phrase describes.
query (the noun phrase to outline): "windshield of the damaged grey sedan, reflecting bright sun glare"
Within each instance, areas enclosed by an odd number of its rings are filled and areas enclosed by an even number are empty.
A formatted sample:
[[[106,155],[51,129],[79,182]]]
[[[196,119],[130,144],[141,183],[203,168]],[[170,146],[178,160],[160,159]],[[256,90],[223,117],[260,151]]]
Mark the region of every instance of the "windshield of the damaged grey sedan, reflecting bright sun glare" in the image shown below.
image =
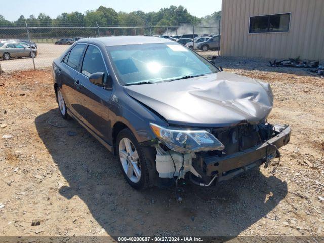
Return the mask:
[[[122,85],[155,83],[207,75],[219,70],[177,43],[106,47]]]

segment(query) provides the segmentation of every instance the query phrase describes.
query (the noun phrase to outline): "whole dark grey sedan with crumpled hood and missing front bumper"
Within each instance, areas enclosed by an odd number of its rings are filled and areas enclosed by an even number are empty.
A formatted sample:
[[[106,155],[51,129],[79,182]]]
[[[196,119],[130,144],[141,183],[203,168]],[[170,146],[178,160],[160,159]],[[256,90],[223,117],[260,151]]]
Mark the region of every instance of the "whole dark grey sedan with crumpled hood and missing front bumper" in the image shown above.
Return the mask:
[[[288,125],[267,122],[269,84],[168,39],[82,39],[54,60],[53,78],[62,117],[117,155],[136,189],[217,184],[267,166],[290,139]]]

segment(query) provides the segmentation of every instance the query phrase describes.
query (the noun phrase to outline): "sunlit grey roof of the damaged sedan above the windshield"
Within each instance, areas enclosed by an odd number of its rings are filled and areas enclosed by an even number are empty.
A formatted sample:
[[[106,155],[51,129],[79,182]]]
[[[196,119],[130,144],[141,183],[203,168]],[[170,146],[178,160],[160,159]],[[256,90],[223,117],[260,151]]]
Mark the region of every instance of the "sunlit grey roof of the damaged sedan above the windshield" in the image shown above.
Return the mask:
[[[92,39],[80,39],[77,43],[92,43],[104,46],[136,45],[151,43],[170,43],[170,39],[151,36],[110,36]]]

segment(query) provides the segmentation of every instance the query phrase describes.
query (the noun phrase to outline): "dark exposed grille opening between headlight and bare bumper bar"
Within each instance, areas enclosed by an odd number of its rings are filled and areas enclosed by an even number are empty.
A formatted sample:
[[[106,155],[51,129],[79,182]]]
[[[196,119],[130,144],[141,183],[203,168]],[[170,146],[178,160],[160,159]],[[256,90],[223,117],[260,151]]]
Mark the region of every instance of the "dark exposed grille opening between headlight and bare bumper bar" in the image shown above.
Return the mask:
[[[240,152],[261,143],[258,125],[242,124],[226,128],[212,129],[214,136],[221,141],[226,155]]]

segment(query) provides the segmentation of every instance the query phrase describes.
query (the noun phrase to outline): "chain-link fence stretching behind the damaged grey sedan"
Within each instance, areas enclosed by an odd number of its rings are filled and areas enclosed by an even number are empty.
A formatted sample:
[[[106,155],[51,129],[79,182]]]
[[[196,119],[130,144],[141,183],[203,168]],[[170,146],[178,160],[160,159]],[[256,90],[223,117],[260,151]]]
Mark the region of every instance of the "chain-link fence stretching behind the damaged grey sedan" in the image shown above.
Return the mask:
[[[71,44],[80,38],[105,36],[182,36],[219,35],[220,25],[206,26],[132,26],[132,27],[0,27],[0,70],[36,70],[50,67]],[[15,41],[15,45],[9,45]],[[8,48],[7,48],[8,47]],[[0,71],[1,73],[1,71]]]

